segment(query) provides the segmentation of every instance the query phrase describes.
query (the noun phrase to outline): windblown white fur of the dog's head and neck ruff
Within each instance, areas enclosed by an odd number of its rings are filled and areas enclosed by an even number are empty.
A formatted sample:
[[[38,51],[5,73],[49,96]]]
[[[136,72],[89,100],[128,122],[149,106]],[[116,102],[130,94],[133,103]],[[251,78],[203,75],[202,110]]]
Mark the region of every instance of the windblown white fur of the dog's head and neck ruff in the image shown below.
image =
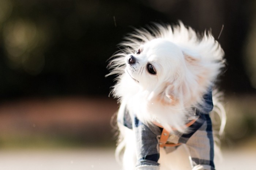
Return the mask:
[[[126,107],[143,123],[154,121],[184,132],[181,127],[191,108],[207,107],[202,96],[214,87],[223,56],[211,32],[199,35],[181,22],[136,29],[108,66],[108,75],[117,75],[112,94],[121,103],[118,116]]]

